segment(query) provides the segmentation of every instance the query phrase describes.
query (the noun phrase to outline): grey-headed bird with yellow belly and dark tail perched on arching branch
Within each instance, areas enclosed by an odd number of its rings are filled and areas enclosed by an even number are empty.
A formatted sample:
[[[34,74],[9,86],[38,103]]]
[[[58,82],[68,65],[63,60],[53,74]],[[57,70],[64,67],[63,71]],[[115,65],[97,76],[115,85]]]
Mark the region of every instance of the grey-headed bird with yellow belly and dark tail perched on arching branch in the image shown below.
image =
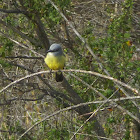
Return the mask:
[[[52,44],[47,51],[44,61],[51,70],[64,69],[66,57],[63,53],[61,45],[56,43]],[[63,74],[61,71],[56,72],[55,80],[57,82],[63,81]]]

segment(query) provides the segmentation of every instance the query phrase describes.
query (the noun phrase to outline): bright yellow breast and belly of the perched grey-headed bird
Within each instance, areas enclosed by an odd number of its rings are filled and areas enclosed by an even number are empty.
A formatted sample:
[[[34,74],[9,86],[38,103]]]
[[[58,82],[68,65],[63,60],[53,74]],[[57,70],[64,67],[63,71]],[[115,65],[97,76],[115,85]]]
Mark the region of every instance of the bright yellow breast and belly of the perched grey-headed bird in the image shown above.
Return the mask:
[[[52,53],[48,53],[45,58],[45,63],[52,70],[63,69],[65,65],[65,61],[66,59],[64,55],[55,56]]]

